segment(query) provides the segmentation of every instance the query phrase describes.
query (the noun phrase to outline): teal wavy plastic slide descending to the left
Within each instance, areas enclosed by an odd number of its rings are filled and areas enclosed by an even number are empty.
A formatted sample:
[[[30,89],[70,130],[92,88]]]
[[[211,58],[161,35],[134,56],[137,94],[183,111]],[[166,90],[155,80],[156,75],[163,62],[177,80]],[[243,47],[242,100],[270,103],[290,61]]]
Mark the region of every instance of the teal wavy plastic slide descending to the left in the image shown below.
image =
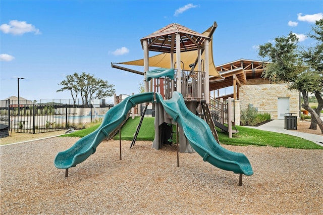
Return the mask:
[[[144,102],[153,102],[152,92],[131,95],[115,105],[106,112],[100,127],[79,139],[71,148],[61,151],[56,155],[54,160],[55,167],[68,169],[82,163],[126,119],[127,113],[133,106]]]

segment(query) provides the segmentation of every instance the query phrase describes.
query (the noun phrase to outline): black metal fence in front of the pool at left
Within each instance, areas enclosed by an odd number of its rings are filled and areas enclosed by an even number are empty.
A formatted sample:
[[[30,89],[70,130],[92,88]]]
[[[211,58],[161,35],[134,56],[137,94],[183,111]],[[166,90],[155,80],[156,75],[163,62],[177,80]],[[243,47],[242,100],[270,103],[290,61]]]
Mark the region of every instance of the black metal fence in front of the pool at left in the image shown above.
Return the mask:
[[[43,133],[65,129],[82,129],[100,122],[113,104],[24,104],[0,100],[0,123],[15,132]]]

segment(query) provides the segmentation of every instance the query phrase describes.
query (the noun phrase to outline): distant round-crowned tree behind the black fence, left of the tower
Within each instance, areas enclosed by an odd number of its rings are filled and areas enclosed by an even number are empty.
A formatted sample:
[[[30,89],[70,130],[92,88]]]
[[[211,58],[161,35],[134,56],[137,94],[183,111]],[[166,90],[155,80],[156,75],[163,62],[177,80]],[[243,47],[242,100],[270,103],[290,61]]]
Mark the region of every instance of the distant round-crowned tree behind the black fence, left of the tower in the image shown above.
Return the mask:
[[[77,95],[81,96],[83,104],[88,105],[92,98],[109,97],[116,91],[113,84],[97,79],[94,75],[86,74],[85,72],[81,75],[77,73],[68,75],[66,80],[62,81],[59,85],[63,87],[57,90],[57,92],[69,90],[74,104],[76,103]]]

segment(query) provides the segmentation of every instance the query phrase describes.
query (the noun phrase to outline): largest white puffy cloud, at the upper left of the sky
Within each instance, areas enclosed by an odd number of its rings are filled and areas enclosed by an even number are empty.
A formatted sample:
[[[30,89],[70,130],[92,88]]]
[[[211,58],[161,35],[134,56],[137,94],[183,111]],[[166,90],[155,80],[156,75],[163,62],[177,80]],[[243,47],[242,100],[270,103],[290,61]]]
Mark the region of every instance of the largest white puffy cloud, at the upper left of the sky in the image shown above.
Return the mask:
[[[40,34],[39,29],[37,29],[32,24],[28,24],[25,21],[11,20],[9,24],[0,25],[0,30],[6,34],[13,35],[23,35],[24,33],[35,32],[35,34]]]

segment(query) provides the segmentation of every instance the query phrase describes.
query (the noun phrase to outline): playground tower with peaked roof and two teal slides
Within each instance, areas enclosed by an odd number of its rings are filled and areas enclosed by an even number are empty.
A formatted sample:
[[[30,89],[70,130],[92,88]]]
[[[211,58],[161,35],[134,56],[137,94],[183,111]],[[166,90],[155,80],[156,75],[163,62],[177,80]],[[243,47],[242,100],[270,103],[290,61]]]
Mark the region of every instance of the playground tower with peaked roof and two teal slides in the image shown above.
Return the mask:
[[[213,27],[216,27],[215,22]],[[81,138],[66,151],[57,154],[55,166],[65,169],[67,177],[69,168],[82,163],[96,151],[101,141],[111,137],[118,127],[120,129],[120,125],[136,104],[152,102],[155,108],[154,148],[161,147],[162,135],[158,132],[159,126],[165,122],[176,124],[179,126],[180,152],[196,151],[203,157],[204,162],[240,174],[241,186],[242,175],[253,174],[249,160],[245,155],[229,151],[220,145],[208,109],[210,39],[178,24],[168,25],[143,37],[141,44],[144,50],[145,92],[131,95],[115,105],[106,113],[96,131]],[[170,53],[169,68],[149,70],[149,51]],[[184,69],[185,64],[181,60],[181,53],[187,51],[196,51],[197,56],[195,62],[189,65],[190,70]],[[204,119],[199,117],[201,112]],[[228,120],[228,128],[232,128],[231,120]]]

